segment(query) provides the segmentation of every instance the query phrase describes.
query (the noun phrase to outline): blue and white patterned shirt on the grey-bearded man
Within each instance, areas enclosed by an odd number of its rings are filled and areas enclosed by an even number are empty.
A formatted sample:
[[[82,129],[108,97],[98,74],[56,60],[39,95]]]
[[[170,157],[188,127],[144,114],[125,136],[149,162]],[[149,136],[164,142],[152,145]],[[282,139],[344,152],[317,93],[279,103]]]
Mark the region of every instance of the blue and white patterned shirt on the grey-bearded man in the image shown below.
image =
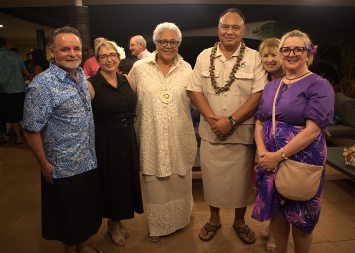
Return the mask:
[[[85,73],[73,75],[50,63],[26,89],[23,127],[41,132],[53,178],[66,178],[97,167],[91,100]]]

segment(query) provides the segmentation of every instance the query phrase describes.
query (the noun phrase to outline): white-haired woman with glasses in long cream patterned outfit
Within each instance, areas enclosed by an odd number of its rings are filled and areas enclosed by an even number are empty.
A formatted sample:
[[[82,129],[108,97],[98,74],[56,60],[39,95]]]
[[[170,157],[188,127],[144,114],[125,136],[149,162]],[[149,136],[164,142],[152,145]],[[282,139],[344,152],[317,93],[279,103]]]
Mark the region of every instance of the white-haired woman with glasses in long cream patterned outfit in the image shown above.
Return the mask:
[[[197,142],[186,91],[192,69],[177,53],[181,40],[175,24],[157,25],[157,50],[135,62],[128,74],[138,97],[134,126],[147,202],[147,239],[152,242],[186,227],[193,207]]]

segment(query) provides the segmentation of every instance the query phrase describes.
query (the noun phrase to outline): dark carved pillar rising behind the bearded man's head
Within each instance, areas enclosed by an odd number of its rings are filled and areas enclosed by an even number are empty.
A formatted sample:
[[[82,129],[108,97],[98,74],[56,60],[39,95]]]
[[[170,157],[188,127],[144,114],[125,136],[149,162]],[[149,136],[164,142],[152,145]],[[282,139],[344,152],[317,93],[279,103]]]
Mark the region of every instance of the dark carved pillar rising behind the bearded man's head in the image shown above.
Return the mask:
[[[80,5],[80,0],[76,0],[75,4]],[[90,48],[90,25],[89,25],[89,9],[87,6],[69,7],[69,23],[70,26],[78,29],[82,40],[82,63],[87,60]]]

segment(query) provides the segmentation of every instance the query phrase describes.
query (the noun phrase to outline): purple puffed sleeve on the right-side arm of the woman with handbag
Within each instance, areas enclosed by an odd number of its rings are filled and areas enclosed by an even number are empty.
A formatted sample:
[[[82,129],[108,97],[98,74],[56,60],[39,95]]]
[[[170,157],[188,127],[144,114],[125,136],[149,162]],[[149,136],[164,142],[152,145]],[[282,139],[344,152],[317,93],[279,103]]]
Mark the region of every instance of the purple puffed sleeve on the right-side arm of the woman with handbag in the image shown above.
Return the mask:
[[[316,78],[309,88],[309,98],[304,119],[314,120],[322,129],[332,123],[334,115],[334,90],[326,79]]]

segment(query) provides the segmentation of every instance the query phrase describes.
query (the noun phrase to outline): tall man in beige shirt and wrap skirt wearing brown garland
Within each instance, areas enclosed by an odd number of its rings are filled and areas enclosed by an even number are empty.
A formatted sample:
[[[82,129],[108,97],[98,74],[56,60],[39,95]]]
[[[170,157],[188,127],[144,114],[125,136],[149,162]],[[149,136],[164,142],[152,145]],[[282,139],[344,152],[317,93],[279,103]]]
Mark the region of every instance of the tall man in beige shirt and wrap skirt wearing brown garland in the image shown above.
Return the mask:
[[[222,226],[220,208],[234,208],[233,229],[244,243],[255,241],[245,224],[246,206],[255,202],[254,112],[267,82],[260,54],[243,42],[244,16],[230,8],[220,15],[218,41],[197,57],[191,99],[201,113],[201,173],[209,221],[199,237],[208,241]],[[216,71],[215,71],[216,70]]]

